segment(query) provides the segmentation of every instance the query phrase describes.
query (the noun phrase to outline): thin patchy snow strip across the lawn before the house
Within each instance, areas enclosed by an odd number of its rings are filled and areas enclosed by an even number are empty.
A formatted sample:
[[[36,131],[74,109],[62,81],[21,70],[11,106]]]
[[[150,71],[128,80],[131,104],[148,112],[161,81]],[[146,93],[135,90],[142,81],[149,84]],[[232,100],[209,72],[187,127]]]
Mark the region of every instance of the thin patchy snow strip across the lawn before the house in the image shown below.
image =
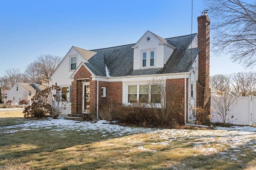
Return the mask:
[[[16,128],[16,129],[15,129]],[[97,123],[78,122],[72,120],[48,119],[40,121],[27,121],[24,124],[0,127],[1,133],[15,133],[21,130],[50,129],[50,131],[74,130],[85,132],[86,135],[92,131],[102,133],[102,136],[112,134],[124,137],[126,135],[147,133],[152,140],[152,145],[173,145],[174,142],[192,144],[193,148],[202,154],[214,154],[218,152],[222,158],[236,160],[236,154],[243,155],[241,150],[251,148],[256,152],[256,127],[216,127],[213,130],[190,130],[190,129],[152,129],[140,127],[122,127],[108,124],[107,121]],[[17,130],[18,129],[18,130]],[[122,138],[129,143],[140,144],[138,149],[144,150],[146,143],[143,139],[132,137]],[[155,150],[151,150],[156,152]]]

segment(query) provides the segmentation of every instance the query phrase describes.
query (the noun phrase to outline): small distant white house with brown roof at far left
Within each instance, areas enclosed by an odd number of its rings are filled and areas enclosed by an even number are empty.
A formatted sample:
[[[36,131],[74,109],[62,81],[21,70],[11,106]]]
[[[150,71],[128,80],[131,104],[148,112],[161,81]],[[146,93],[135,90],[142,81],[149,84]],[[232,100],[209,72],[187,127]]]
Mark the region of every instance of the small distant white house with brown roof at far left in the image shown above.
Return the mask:
[[[8,92],[8,100],[12,100],[13,105],[18,105],[20,100],[30,100],[36,92],[44,90],[47,86],[48,84],[16,83]]]

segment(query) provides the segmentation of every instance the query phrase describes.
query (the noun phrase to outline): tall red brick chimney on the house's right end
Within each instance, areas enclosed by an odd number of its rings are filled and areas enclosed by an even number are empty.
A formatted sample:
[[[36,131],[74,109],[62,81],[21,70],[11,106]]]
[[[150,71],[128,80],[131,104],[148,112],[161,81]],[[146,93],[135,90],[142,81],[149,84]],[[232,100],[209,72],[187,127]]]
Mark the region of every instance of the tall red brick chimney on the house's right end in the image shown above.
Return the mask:
[[[210,18],[207,10],[197,18],[198,22],[198,82],[196,83],[196,105],[207,109],[210,115]]]

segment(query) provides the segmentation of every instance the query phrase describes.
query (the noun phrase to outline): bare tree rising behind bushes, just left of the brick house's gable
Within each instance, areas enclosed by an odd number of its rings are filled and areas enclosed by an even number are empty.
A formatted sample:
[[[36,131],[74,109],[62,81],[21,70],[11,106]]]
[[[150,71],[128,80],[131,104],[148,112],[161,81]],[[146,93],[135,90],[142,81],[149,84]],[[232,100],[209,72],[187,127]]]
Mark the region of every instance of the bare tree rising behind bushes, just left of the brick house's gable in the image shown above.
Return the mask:
[[[61,61],[62,58],[59,56],[40,55],[36,60],[36,63],[38,64],[38,72],[44,75],[44,79],[47,80]]]

